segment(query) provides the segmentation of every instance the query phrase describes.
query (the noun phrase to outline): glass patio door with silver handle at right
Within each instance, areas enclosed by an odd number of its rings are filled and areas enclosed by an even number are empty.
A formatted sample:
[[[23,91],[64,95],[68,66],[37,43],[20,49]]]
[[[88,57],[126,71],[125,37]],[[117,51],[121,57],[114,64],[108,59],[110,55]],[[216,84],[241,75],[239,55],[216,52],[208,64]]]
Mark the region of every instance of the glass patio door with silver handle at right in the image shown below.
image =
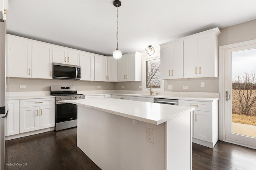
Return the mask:
[[[225,50],[225,139],[256,148],[256,44]]]

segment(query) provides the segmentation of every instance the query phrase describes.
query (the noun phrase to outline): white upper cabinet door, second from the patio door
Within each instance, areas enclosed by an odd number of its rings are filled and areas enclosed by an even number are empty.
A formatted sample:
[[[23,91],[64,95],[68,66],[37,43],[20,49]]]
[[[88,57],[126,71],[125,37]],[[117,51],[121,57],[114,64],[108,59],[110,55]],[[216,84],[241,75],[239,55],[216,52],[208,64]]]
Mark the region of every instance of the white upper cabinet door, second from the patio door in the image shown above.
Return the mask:
[[[184,39],[184,78],[198,77],[198,39]]]

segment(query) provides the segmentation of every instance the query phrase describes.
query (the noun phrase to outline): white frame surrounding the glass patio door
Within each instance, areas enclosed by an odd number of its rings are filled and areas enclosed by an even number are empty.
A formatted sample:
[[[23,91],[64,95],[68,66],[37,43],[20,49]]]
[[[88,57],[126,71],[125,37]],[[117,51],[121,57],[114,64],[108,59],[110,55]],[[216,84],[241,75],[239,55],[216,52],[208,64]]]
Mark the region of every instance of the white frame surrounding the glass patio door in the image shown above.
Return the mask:
[[[235,143],[234,141],[226,140],[225,136],[225,50],[235,47],[240,47],[244,45],[252,45],[256,43],[256,39],[250,41],[243,41],[234,44],[223,45],[219,47],[219,139],[221,141],[234,143],[241,145],[240,143]],[[247,145],[241,145],[244,147],[250,147]],[[255,148],[254,148],[255,149]]]

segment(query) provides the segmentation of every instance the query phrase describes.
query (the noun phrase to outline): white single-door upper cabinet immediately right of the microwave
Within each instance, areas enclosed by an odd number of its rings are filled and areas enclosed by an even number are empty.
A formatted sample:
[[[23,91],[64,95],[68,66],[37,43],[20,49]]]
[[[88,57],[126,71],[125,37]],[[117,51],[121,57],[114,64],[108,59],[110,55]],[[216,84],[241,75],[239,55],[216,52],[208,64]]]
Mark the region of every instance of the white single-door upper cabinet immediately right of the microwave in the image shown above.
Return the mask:
[[[94,81],[94,54],[80,53],[81,78],[80,80]]]

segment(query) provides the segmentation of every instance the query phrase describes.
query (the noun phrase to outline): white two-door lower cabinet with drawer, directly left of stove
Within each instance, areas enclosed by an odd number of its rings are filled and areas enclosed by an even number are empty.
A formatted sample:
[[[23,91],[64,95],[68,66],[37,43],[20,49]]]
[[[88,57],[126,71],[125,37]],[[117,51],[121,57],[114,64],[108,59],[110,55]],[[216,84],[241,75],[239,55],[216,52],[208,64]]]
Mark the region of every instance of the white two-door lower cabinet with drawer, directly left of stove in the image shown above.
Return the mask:
[[[54,98],[20,100],[20,133],[54,127],[54,103]],[[26,107],[26,104],[32,107]]]

